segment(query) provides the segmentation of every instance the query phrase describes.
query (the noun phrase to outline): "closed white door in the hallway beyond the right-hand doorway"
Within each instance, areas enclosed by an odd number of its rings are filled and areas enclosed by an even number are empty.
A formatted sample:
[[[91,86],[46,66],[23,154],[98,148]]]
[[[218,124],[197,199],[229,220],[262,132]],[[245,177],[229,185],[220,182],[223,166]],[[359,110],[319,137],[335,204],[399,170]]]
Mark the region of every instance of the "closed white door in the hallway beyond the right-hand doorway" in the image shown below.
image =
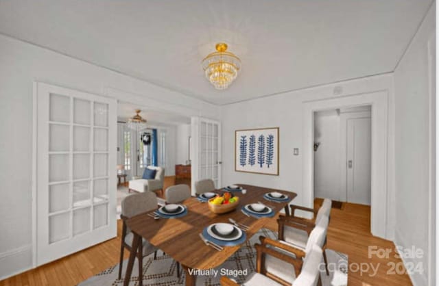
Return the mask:
[[[346,198],[349,203],[370,205],[370,118],[347,120]]]

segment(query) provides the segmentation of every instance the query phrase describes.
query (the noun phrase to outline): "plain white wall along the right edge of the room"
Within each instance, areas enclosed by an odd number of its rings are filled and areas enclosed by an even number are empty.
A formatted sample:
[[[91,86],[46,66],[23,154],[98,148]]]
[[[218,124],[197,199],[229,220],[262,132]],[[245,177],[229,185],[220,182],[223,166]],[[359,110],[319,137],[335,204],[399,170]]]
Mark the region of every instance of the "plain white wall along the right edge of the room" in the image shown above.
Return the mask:
[[[415,265],[423,263],[425,273],[411,276],[414,285],[435,285],[434,280],[429,280],[429,274],[434,277],[434,265],[429,265],[429,259],[435,253],[433,244],[429,243],[429,239],[434,239],[434,232],[429,231],[429,209],[431,212],[434,207],[434,198],[429,191],[429,142],[432,140],[429,120],[434,115],[429,107],[429,61],[434,64],[429,57],[429,44],[433,44],[435,33],[433,5],[394,71],[395,242],[404,248],[415,246],[424,252],[422,258],[405,259]]]

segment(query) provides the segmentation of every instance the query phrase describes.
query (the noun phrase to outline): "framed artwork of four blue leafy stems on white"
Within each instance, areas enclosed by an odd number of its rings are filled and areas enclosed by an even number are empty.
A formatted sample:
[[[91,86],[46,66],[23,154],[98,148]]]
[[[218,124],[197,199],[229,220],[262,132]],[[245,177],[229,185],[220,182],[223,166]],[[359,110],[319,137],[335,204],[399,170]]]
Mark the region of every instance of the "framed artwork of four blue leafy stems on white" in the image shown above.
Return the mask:
[[[235,171],[279,175],[279,128],[235,131]]]

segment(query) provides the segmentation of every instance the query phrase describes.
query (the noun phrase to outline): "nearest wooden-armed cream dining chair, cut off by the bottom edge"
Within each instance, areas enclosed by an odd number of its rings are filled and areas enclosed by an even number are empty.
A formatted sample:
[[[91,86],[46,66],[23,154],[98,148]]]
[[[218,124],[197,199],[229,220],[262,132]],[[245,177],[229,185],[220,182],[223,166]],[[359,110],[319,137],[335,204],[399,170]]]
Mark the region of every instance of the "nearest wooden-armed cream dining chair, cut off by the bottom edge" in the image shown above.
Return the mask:
[[[292,257],[291,246],[282,244],[267,237],[259,237],[261,244],[255,244],[257,250],[256,272],[248,276],[242,285],[246,286],[316,286],[320,284],[319,265],[322,262],[322,248],[317,245],[311,246],[305,259]],[[290,270],[287,281],[276,276],[265,267],[267,257],[278,260],[278,267]],[[237,286],[235,281],[226,276],[220,280],[223,286]]]

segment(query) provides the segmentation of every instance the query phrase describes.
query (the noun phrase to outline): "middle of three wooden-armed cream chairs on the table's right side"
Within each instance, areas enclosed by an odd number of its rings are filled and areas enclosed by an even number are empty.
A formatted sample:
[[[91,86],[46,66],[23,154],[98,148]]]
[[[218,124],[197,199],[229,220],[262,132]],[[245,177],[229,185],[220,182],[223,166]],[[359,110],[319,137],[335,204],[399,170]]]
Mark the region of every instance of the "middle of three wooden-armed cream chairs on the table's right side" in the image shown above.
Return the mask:
[[[329,275],[326,255],[328,225],[329,218],[325,214],[320,216],[317,224],[298,224],[292,221],[292,218],[279,218],[278,239],[281,243],[289,244],[298,250],[294,252],[298,257],[305,256],[311,246],[317,244],[322,248],[325,270]]]

